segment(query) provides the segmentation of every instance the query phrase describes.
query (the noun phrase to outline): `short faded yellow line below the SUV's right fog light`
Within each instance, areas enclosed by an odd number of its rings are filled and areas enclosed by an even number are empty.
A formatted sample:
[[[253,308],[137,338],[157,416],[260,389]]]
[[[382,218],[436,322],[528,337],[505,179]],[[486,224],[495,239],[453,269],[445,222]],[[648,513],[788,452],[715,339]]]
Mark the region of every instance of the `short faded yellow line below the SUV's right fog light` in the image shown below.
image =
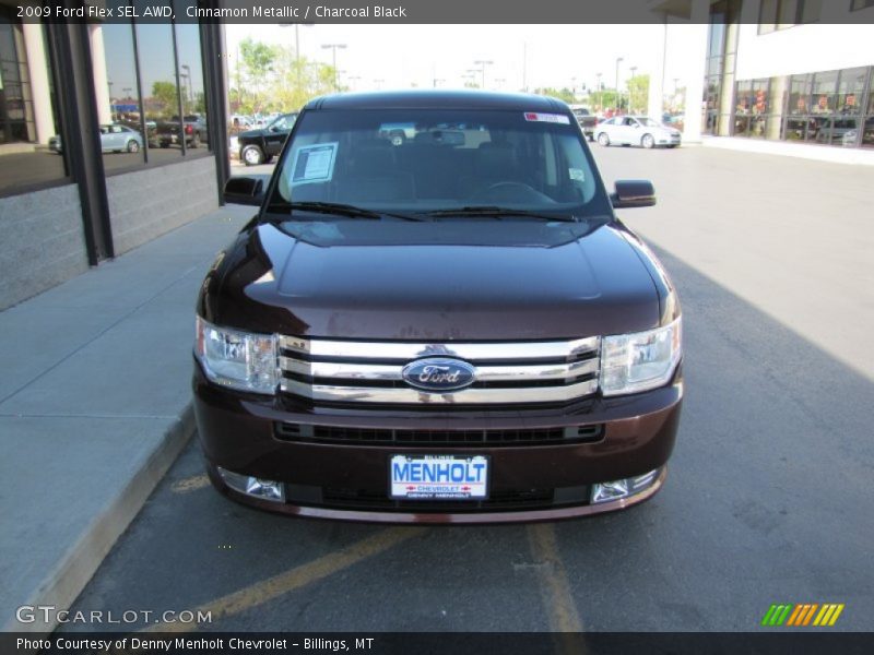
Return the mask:
[[[540,569],[541,586],[552,632],[582,632],[582,622],[570,593],[565,564],[558,553],[555,526],[539,523],[528,527],[528,540],[535,562],[547,564]],[[574,648],[579,653],[579,644]]]

